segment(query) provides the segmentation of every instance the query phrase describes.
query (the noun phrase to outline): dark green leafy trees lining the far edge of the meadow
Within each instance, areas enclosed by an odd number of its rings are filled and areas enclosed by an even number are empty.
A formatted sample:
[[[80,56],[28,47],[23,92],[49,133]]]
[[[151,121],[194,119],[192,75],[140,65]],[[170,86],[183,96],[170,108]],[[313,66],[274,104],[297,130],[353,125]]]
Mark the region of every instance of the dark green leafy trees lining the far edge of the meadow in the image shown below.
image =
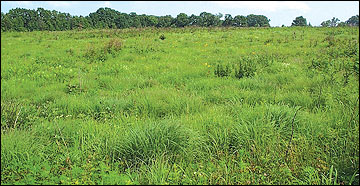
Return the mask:
[[[250,14],[248,16],[236,15],[232,17],[225,14],[224,20],[221,20],[223,14],[212,14],[202,12],[200,15],[190,15],[180,13],[176,17],[171,15],[154,16],[138,15],[135,12],[121,13],[111,8],[99,8],[96,12],[88,16],[72,16],[69,13],[62,13],[56,10],[45,10],[38,8],[36,10],[15,8],[8,13],[1,12],[1,31],[62,31],[72,29],[120,29],[120,28],[143,28],[143,27],[270,27],[270,19],[264,15]],[[333,25],[332,20],[327,26]],[[357,21],[357,22],[356,22]],[[310,25],[310,23],[309,23]],[[341,25],[340,23],[337,25]],[[353,16],[342,26],[359,26],[359,16]],[[306,19],[302,16],[297,17],[292,26],[308,26]]]

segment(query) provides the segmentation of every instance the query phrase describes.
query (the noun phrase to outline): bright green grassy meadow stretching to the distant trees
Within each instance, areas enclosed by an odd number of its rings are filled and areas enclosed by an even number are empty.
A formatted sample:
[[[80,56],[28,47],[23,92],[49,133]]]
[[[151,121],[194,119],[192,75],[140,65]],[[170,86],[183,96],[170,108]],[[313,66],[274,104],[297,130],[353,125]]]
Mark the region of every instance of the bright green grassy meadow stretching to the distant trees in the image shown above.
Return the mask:
[[[1,33],[1,184],[359,184],[359,28]]]

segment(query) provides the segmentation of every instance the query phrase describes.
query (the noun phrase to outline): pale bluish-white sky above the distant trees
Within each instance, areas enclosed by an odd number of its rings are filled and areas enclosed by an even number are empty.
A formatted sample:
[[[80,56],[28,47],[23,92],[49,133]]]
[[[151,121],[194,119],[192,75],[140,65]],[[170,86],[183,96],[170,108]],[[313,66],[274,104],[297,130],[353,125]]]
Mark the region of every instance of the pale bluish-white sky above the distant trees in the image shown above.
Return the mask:
[[[179,13],[199,15],[201,12],[247,16],[265,15],[271,26],[290,26],[303,16],[313,26],[333,17],[346,21],[359,15],[359,1],[1,1],[1,12],[13,8],[57,10],[71,15],[87,16],[101,7],[119,12],[176,17]]]

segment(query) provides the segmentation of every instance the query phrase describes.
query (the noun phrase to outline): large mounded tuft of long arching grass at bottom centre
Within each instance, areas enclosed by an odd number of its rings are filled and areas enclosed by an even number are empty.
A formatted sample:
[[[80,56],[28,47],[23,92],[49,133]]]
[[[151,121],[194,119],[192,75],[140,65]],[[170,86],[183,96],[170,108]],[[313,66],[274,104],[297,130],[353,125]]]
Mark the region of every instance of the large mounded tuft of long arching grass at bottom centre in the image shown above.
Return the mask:
[[[133,126],[124,134],[116,147],[115,159],[129,166],[148,164],[158,156],[177,158],[186,154],[190,147],[190,133],[180,124],[149,122]]]

